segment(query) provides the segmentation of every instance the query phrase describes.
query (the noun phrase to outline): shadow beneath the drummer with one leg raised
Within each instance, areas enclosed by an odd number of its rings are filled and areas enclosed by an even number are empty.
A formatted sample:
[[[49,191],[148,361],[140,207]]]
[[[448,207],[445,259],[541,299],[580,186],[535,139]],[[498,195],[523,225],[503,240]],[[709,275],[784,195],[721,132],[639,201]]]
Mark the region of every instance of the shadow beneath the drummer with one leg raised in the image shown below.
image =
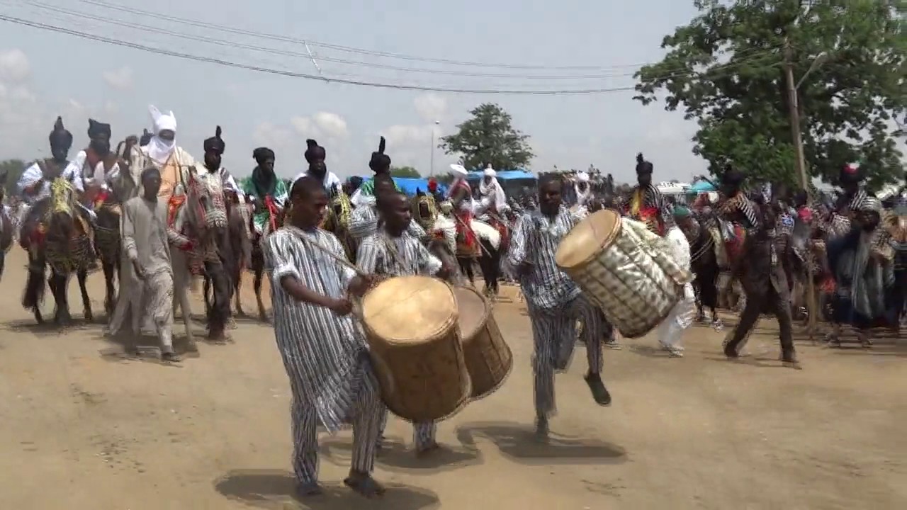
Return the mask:
[[[520,464],[620,464],[627,460],[627,452],[620,446],[555,433],[543,441],[535,436],[534,427],[510,422],[465,424],[457,427],[456,436],[470,450],[478,450],[476,437],[489,439],[503,456]]]

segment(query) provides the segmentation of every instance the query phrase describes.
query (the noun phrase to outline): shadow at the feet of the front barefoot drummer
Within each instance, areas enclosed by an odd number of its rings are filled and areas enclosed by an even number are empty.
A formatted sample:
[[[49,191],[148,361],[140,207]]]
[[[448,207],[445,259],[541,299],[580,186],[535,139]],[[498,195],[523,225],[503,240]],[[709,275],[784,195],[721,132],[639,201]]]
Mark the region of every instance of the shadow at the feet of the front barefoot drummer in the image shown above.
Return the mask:
[[[440,506],[433,492],[407,485],[386,485],[387,492],[379,499],[366,499],[339,483],[323,487],[323,495],[302,498],[296,495],[296,479],[291,473],[271,469],[230,471],[214,482],[221,495],[258,508],[430,510]]]

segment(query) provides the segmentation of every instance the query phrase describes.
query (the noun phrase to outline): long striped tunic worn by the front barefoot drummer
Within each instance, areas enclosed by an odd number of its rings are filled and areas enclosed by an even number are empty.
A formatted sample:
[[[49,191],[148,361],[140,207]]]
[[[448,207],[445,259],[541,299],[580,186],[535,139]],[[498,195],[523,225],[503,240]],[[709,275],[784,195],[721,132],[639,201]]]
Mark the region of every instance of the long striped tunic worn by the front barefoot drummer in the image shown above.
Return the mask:
[[[333,433],[354,408],[367,348],[352,316],[339,317],[325,307],[297,301],[281,287],[280,280],[289,276],[319,294],[335,299],[346,296],[356,272],[313,243],[346,257],[330,232],[285,227],[265,241],[265,267],[271,279],[274,334],[290,388]]]

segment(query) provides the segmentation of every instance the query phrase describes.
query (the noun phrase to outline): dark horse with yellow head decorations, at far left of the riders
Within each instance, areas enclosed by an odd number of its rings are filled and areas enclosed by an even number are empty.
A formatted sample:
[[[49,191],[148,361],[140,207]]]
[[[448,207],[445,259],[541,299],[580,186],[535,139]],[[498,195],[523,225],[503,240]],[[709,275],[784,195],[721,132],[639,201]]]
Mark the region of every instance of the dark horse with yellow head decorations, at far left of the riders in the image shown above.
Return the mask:
[[[33,311],[34,319],[39,324],[44,323],[40,305],[44,298],[44,266],[49,265],[51,276],[47,284],[56,303],[54,323],[66,326],[72,320],[66,288],[69,275],[73,272],[82,293],[84,318],[93,320],[85,282],[94,252],[91,225],[78,210],[72,183],[59,175],[52,179],[50,196],[34,204],[35,210],[30,215],[34,221],[25,229],[29,237],[26,244],[29,269],[22,304],[25,309]]]

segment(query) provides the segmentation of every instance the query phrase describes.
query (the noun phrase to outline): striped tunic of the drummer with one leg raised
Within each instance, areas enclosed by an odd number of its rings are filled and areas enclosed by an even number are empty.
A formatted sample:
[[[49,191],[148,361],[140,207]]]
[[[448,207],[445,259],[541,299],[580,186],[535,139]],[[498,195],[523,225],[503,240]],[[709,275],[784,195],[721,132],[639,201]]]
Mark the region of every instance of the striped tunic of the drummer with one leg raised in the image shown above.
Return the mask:
[[[554,309],[580,295],[580,288],[554,262],[561,239],[580,222],[566,207],[550,219],[541,211],[525,213],[513,229],[507,260],[513,267],[532,263],[532,270],[520,284],[530,304],[539,309]]]

